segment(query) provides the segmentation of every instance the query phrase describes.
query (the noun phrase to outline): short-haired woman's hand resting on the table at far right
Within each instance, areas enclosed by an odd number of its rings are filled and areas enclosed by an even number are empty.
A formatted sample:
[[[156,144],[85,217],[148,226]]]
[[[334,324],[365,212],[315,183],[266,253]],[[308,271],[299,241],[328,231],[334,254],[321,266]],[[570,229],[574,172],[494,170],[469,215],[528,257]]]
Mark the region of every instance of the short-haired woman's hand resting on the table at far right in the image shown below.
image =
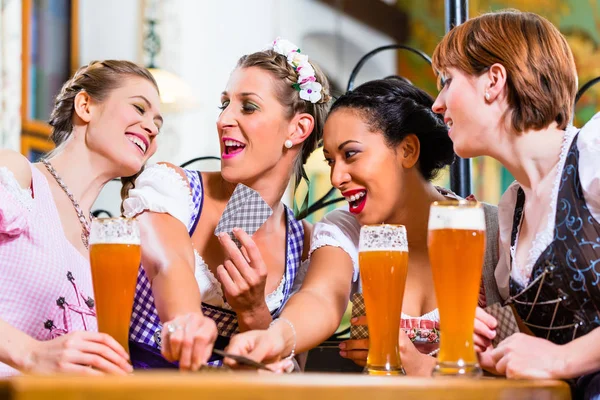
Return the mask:
[[[513,379],[561,379],[567,354],[564,346],[515,333],[490,354],[496,370]]]

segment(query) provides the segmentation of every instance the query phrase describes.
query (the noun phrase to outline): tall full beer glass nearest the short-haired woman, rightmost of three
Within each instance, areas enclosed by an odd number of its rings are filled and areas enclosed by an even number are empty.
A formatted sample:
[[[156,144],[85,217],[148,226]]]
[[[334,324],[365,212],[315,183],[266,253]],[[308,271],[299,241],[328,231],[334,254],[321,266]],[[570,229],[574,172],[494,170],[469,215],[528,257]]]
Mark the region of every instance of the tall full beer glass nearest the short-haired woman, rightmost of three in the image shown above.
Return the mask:
[[[482,205],[434,202],[427,245],[440,311],[440,352],[433,375],[480,376],[473,329],[485,253]]]

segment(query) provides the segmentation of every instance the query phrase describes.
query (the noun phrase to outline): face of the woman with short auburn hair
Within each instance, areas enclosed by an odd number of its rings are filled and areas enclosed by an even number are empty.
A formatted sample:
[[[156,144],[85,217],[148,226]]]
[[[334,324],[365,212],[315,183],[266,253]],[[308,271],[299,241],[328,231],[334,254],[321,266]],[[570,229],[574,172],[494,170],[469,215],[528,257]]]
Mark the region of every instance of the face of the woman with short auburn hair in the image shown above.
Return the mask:
[[[454,151],[463,158],[487,155],[487,146],[494,145],[488,133],[500,123],[501,116],[486,106],[485,78],[448,68],[432,107],[433,112],[444,116]]]

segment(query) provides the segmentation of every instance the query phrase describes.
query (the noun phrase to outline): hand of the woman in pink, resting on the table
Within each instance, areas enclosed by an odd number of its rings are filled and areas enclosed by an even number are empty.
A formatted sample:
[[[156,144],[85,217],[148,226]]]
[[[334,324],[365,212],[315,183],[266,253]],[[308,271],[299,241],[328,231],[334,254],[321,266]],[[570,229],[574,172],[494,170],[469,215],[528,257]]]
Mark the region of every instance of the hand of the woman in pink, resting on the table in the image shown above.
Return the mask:
[[[26,374],[127,375],[133,371],[123,346],[105,333],[78,331],[32,343],[23,363]]]

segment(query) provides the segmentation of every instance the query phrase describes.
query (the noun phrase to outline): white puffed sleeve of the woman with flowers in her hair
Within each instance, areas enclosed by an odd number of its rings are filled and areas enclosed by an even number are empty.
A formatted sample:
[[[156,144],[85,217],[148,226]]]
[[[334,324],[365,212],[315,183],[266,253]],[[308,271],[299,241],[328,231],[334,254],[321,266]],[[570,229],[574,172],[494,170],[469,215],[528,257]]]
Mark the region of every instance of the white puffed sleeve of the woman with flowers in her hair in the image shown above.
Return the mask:
[[[146,210],[170,214],[187,228],[194,211],[187,180],[167,165],[148,165],[123,202],[123,214],[134,217]]]

